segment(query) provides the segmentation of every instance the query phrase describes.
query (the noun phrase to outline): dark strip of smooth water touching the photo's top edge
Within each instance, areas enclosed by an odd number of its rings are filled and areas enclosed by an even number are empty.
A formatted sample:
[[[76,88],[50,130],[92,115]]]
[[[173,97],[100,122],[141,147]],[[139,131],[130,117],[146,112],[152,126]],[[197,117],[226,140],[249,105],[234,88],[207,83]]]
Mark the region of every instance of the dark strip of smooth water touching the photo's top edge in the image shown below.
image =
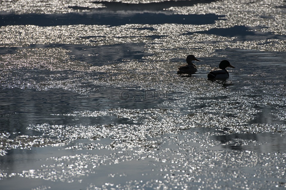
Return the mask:
[[[93,1],[95,4],[103,4],[106,7],[98,8],[102,10],[111,11],[162,11],[170,7],[185,7],[193,6],[198,3],[211,3],[215,0],[181,0],[181,1],[162,1],[162,2],[150,2],[150,3],[125,3],[115,1]],[[77,9],[77,7],[75,7]]]

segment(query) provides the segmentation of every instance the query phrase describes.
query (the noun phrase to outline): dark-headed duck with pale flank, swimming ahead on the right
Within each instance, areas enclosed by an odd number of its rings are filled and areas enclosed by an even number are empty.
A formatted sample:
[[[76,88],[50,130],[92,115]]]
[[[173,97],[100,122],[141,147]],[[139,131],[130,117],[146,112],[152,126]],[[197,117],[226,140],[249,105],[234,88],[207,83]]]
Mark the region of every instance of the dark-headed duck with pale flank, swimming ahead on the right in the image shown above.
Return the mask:
[[[219,69],[212,69],[208,74],[208,80],[226,80],[229,78],[229,72],[227,72],[226,67],[235,68],[229,61],[223,60],[220,62]]]

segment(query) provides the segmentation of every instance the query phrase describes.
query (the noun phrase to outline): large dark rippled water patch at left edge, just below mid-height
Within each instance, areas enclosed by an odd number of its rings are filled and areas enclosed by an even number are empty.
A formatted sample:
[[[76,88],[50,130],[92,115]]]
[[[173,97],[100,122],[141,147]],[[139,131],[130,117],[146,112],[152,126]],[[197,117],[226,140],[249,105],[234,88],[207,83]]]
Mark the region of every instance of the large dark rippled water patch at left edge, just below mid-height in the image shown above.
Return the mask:
[[[86,88],[94,89],[94,85],[86,84]],[[150,109],[168,100],[168,94],[157,90],[136,90],[106,88],[97,86],[98,90],[89,95],[63,89],[37,91],[35,89],[0,90],[0,132],[37,135],[38,132],[27,131],[29,124],[132,124],[126,118],[100,116],[74,120],[65,115],[75,111],[99,111],[111,108]],[[131,122],[131,123],[130,123]]]

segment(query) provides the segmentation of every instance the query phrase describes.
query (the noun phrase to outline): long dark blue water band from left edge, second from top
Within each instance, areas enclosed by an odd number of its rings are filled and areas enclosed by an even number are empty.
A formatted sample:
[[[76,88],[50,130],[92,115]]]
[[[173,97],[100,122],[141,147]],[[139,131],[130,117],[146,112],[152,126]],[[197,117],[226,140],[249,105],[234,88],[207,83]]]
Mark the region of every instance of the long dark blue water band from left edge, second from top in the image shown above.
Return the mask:
[[[36,26],[62,26],[62,25],[110,25],[125,24],[213,24],[220,20],[218,15],[168,15],[164,13],[129,13],[119,14],[113,12],[92,13],[66,13],[66,14],[29,14],[29,15],[0,15],[0,26],[8,25],[36,25]]]

